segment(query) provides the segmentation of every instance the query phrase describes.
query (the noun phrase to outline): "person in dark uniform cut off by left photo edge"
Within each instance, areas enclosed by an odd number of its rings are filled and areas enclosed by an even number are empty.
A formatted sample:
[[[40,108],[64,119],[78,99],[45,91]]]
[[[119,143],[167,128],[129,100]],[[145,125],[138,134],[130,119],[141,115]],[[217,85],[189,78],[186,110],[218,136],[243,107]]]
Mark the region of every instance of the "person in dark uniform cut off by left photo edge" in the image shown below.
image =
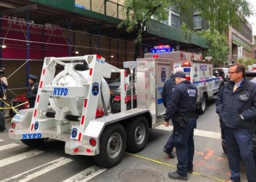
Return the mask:
[[[4,70],[0,69],[0,108],[4,107],[4,103],[1,100],[6,100],[5,90],[8,87],[7,78],[4,76]],[[3,109],[0,109],[0,132],[4,131],[5,128],[5,120],[4,120],[5,112]]]

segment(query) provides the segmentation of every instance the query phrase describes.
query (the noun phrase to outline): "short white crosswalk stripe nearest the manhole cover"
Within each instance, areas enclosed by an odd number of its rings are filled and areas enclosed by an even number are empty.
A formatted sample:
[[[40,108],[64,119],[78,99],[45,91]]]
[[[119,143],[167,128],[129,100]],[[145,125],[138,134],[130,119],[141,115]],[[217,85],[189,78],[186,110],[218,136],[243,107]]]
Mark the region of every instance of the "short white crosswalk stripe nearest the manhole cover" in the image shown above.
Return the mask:
[[[99,167],[97,165],[93,165],[86,170],[81,171],[80,173],[73,175],[72,177],[68,178],[64,182],[76,182],[76,181],[89,181],[91,178],[94,178],[96,175],[103,173],[105,168]]]

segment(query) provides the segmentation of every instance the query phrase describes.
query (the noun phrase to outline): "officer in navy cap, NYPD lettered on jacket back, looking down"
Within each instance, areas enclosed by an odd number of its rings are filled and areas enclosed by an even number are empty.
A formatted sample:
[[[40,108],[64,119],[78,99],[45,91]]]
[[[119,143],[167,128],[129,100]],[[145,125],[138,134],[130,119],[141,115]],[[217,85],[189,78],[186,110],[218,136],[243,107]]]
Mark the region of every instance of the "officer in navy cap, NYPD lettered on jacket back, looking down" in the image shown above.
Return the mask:
[[[197,87],[186,80],[186,74],[175,74],[176,87],[167,100],[165,126],[173,121],[173,143],[178,159],[176,172],[168,173],[169,178],[187,180],[187,173],[192,173],[194,157],[194,128],[196,127],[195,108]]]

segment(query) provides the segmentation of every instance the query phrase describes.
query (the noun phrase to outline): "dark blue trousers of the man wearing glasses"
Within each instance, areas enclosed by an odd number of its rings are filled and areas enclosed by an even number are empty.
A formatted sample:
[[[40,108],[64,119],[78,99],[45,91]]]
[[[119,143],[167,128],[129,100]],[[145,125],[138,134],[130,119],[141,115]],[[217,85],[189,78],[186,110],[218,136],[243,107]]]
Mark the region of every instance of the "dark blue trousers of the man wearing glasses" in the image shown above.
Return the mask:
[[[248,129],[224,127],[227,158],[232,181],[240,181],[240,156],[246,168],[248,181],[256,181],[255,159],[252,151],[252,135]]]

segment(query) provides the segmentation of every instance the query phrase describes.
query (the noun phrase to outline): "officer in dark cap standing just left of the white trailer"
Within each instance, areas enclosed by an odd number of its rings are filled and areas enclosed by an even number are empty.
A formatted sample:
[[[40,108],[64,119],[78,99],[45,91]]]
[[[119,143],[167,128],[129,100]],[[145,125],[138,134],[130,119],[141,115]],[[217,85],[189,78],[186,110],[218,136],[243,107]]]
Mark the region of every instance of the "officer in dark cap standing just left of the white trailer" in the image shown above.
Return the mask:
[[[37,98],[38,82],[37,76],[29,74],[29,87],[26,92],[26,98],[29,100],[29,108],[34,108],[34,102]]]

